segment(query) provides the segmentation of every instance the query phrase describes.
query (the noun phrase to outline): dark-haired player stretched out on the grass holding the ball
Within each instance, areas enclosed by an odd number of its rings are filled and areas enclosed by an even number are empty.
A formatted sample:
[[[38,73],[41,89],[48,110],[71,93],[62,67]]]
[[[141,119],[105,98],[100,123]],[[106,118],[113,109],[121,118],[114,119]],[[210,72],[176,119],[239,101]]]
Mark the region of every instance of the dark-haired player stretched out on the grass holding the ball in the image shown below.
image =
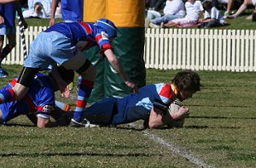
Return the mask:
[[[92,124],[117,126],[136,120],[144,120],[144,126],[160,128],[162,126],[182,126],[175,120],[183,120],[189,115],[187,107],[181,107],[177,113],[169,109],[176,99],[183,101],[192,98],[192,94],[201,90],[200,76],[192,70],[177,73],[172,83],[151,84],[131,93],[124,98],[103,98],[84,109],[84,118]],[[169,111],[169,112],[168,112]]]

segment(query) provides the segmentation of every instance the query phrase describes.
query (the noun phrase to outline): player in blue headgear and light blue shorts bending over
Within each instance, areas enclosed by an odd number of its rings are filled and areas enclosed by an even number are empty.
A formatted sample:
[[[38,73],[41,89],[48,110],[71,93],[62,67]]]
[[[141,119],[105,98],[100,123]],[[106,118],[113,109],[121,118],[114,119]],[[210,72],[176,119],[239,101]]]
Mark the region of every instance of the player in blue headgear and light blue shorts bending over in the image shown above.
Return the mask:
[[[96,68],[80,50],[98,46],[102,56],[108,59],[113,69],[124,79],[126,86],[137,92],[137,86],[127,76],[119,59],[113,53],[111,41],[116,36],[115,25],[107,19],[97,20],[95,24],[80,21],[61,22],[50,26],[32,42],[17,83],[13,88],[0,92],[2,94],[0,104],[23,98],[32,87],[32,80],[38,71],[46,70],[50,66],[53,67],[53,75],[61,92],[67,92],[67,83],[58,77],[58,71],[55,70],[55,65],[60,64],[67,70],[76,70],[81,77],[76,109],[70,124],[71,126],[84,126],[86,123],[82,119],[83,109],[96,79]],[[83,42],[83,48],[79,49],[79,42]]]

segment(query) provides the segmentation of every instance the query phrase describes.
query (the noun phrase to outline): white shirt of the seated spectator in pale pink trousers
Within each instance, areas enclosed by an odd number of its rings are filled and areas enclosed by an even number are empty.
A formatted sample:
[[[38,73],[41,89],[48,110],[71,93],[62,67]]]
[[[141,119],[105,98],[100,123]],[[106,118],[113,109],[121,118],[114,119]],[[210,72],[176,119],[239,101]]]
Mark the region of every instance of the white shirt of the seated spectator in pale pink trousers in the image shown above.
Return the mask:
[[[201,11],[204,10],[204,8],[202,7],[201,1],[195,1],[195,3],[186,2],[185,8],[187,12],[187,15],[185,16],[185,18],[191,21],[198,20],[199,14],[201,13]]]

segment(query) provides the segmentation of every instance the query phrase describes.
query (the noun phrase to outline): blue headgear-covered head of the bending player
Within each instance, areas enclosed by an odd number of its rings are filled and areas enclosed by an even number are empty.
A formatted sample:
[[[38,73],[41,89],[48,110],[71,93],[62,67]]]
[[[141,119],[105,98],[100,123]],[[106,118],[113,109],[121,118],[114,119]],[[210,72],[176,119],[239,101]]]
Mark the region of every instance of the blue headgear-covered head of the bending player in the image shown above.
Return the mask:
[[[108,34],[109,39],[113,39],[117,36],[117,28],[111,20],[100,19],[96,20],[95,25],[100,26]]]

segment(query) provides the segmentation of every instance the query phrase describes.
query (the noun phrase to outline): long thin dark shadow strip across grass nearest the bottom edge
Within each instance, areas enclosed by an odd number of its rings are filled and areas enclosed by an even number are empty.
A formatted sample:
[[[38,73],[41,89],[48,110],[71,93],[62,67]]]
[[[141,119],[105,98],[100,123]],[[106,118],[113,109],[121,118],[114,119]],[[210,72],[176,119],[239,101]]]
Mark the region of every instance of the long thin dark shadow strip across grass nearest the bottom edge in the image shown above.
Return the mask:
[[[10,156],[20,156],[20,157],[38,157],[38,156],[111,156],[111,157],[152,157],[152,156],[162,156],[162,154],[144,154],[144,153],[134,153],[134,154],[103,154],[103,153],[9,153],[0,154],[0,157],[10,157]]]

